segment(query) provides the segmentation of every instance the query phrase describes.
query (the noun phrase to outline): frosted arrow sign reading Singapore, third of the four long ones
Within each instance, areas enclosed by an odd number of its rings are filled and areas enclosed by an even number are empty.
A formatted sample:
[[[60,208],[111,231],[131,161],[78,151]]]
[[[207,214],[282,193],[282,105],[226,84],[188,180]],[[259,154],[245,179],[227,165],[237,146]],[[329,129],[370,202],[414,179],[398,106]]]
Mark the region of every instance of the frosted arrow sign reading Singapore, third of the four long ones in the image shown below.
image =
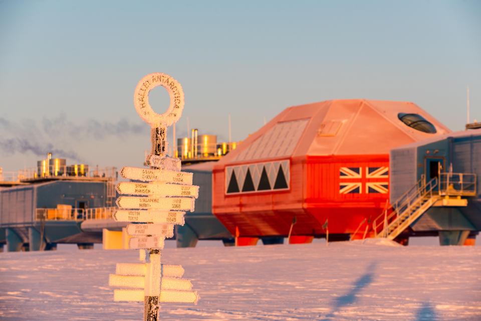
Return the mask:
[[[159,209],[166,211],[193,211],[194,199],[190,197],[120,196],[117,206],[124,209]]]

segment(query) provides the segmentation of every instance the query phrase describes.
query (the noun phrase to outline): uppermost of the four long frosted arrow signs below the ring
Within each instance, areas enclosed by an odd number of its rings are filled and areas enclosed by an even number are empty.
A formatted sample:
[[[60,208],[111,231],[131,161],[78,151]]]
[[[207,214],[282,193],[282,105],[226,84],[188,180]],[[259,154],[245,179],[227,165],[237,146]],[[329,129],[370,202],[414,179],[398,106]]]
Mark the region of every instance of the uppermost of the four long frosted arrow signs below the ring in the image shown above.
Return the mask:
[[[120,171],[123,178],[146,182],[165,182],[192,185],[192,173],[124,167]]]

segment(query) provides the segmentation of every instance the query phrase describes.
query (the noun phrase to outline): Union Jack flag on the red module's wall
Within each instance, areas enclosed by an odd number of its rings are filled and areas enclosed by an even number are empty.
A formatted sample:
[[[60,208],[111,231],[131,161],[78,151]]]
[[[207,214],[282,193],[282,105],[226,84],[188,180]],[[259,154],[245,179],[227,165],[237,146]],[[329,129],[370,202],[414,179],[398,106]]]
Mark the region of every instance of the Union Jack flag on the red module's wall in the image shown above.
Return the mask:
[[[341,167],[339,169],[339,194],[387,194],[389,168]]]

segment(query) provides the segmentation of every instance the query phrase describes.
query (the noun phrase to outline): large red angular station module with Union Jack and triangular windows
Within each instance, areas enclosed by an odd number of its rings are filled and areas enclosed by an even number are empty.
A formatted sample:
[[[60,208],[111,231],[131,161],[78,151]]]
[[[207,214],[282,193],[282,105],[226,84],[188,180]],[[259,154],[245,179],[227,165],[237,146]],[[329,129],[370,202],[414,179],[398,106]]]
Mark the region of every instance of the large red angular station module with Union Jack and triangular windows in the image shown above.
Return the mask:
[[[289,107],[214,166],[213,214],[239,245],[287,236],[294,217],[291,243],[326,234],[326,220],[330,239],[362,237],[388,200],[389,150],[448,132],[411,102]]]

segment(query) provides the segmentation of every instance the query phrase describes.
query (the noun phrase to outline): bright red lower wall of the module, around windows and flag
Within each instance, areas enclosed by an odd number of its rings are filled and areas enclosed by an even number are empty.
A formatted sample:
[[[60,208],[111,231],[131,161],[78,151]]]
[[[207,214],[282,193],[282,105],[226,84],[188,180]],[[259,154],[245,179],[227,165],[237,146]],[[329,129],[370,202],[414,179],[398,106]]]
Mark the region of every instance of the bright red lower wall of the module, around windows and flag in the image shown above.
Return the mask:
[[[367,182],[387,179],[357,179],[362,193],[340,194],[340,168],[383,167],[388,155],[307,156],[291,158],[289,191],[225,195],[224,171],[213,171],[213,213],[233,234],[240,236],[287,236],[293,217],[297,235],[354,233],[360,223],[371,223],[385,206],[388,194],[365,193]],[[364,225],[365,226],[365,225]],[[364,227],[362,227],[364,232]]]

